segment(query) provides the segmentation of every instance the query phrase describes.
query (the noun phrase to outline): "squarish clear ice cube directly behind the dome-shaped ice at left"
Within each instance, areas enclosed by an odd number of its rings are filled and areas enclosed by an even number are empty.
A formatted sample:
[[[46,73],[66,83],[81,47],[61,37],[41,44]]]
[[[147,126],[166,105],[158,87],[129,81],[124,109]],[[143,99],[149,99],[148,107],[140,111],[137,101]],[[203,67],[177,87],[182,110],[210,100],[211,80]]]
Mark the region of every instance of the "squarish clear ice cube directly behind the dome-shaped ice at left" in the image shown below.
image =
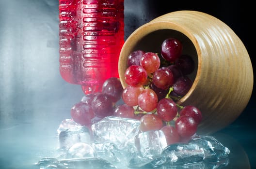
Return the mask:
[[[73,144],[77,142],[85,142],[85,143],[91,142],[90,132],[87,127],[76,126],[60,132],[60,135],[59,135],[60,148],[68,149],[69,147],[71,147]]]

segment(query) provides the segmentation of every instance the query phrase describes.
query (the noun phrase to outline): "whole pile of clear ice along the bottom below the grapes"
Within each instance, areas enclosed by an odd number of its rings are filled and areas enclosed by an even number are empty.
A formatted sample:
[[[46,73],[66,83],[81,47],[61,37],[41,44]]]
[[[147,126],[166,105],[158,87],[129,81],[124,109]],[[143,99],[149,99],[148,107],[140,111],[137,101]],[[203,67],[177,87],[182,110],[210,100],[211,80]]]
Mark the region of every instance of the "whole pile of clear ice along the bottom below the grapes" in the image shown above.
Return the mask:
[[[220,169],[229,149],[212,136],[195,135],[188,143],[167,146],[161,130],[140,132],[140,121],[108,116],[91,131],[71,119],[57,134],[59,156],[42,158],[40,169]]]

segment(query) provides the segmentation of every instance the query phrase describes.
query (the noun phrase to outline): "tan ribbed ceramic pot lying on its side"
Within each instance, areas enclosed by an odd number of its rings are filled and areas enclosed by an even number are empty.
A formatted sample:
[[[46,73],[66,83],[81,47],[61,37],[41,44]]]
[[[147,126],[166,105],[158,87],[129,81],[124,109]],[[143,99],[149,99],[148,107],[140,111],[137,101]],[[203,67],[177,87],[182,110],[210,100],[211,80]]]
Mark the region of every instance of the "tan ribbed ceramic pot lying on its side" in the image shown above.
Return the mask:
[[[198,133],[214,133],[238,118],[253,90],[253,68],[240,38],[221,20],[197,11],[176,11],[137,28],[120,53],[118,73],[123,87],[128,55],[134,50],[160,54],[161,42],[175,37],[183,54],[193,56],[193,84],[177,104],[194,105],[203,115]]]

